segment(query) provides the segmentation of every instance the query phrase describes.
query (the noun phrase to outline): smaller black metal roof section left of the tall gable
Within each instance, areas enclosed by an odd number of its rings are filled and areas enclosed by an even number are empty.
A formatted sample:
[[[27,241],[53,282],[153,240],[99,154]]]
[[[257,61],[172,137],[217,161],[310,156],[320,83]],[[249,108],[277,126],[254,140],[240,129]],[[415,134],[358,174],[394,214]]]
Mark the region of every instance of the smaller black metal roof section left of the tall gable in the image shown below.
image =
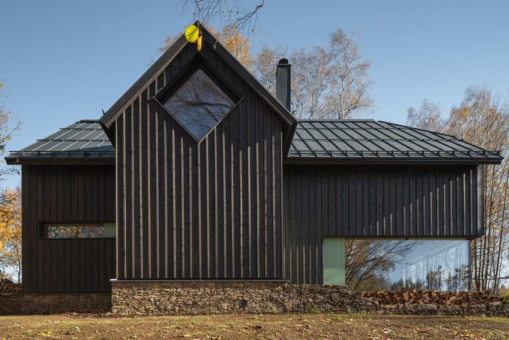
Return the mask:
[[[11,151],[6,159],[11,164],[18,159],[115,159],[115,148],[97,120],[80,120],[19,151]]]

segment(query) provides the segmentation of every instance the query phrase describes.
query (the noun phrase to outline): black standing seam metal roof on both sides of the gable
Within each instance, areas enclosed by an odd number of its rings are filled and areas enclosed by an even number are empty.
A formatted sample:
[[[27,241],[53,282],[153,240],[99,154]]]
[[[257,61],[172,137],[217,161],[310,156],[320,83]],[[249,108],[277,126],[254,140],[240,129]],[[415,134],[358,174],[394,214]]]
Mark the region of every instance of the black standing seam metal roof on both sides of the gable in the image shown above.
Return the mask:
[[[115,149],[97,120],[80,120],[37,140],[7,159],[114,159]],[[359,120],[301,120],[288,160],[446,160],[497,163],[487,151],[462,139],[409,126]]]

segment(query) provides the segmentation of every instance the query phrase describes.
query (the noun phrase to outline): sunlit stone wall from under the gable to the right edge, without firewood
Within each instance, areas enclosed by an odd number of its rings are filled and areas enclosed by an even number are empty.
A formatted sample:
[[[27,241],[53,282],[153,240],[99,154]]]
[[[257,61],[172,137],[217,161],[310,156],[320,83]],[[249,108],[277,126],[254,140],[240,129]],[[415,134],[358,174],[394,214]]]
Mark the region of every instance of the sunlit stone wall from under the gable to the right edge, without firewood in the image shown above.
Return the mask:
[[[342,285],[281,281],[113,281],[111,301],[112,312],[125,316],[365,312],[509,317],[509,306],[496,298],[487,304],[382,305]]]

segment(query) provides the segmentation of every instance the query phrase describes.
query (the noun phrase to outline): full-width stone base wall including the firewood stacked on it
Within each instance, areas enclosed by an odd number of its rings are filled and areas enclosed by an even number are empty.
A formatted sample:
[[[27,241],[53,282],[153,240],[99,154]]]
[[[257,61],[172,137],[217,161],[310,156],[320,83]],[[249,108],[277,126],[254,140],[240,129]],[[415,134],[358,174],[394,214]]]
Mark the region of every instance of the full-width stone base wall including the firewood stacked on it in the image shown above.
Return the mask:
[[[402,299],[402,294],[409,296]],[[64,312],[113,312],[115,316],[356,312],[509,318],[509,304],[502,302],[496,294],[441,292],[440,299],[423,298],[428,295],[433,297],[434,294],[358,293],[342,285],[298,285],[285,281],[113,281],[111,294],[0,294],[0,315]],[[419,297],[415,300],[419,303],[413,303],[414,296]]]

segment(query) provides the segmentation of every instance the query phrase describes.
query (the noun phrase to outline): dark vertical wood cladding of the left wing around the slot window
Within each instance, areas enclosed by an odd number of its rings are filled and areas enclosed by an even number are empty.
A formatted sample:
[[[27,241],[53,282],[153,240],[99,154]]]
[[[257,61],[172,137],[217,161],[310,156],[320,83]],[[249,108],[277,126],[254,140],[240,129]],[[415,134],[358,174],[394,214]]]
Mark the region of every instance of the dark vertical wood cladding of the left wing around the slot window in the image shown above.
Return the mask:
[[[22,166],[24,292],[108,292],[115,239],[43,239],[44,222],[115,221],[113,165]]]

